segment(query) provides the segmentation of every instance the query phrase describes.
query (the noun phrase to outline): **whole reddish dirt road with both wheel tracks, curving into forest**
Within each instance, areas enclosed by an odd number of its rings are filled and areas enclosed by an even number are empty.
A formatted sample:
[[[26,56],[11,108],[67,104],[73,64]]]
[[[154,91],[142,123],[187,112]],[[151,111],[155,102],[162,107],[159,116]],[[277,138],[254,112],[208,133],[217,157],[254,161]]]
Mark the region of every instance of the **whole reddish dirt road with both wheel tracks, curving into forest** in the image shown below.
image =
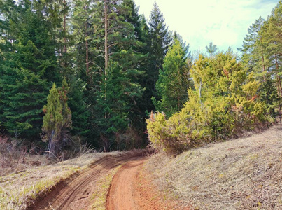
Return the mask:
[[[99,180],[111,169],[122,165],[113,176],[106,197],[107,210],[178,209],[174,202],[164,201],[143,170],[147,157],[143,152],[118,157],[106,156],[73,181],[62,182],[29,209],[92,209],[91,195],[97,192]],[[148,175],[148,174],[147,174]]]

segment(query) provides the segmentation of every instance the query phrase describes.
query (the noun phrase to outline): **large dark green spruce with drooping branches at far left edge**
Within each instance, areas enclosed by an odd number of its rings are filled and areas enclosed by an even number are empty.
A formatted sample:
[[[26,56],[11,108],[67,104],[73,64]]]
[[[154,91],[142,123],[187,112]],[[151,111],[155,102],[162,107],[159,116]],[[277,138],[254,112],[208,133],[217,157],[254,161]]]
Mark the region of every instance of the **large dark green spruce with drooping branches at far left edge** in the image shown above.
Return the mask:
[[[0,63],[1,118],[3,126],[17,137],[39,137],[51,81],[58,78],[55,42],[48,22],[32,1],[2,5],[1,25],[5,43]],[[7,7],[8,6],[8,7]]]

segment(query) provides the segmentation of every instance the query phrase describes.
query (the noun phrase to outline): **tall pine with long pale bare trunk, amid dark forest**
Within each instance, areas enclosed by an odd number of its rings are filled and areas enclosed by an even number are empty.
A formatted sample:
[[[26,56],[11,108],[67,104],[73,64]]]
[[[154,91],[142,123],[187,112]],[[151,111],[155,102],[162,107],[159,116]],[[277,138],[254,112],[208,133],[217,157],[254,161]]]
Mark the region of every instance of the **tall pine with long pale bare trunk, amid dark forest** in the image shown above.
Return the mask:
[[[80,4],[84,10],[74,10],[80,19],[73,18],[75,32],[79,34],[76,37],[80,37],[75,48],[75,67],[87,83],[91,138],[95,139],[95,146],[108,150],[114,144],[115,133],[134,125],[136,113],[141,112],[138,102],[143,90],[139,77],[143,75],[141,62],[146,56],[139,41],[139,15],[133,1],[97,0]]]

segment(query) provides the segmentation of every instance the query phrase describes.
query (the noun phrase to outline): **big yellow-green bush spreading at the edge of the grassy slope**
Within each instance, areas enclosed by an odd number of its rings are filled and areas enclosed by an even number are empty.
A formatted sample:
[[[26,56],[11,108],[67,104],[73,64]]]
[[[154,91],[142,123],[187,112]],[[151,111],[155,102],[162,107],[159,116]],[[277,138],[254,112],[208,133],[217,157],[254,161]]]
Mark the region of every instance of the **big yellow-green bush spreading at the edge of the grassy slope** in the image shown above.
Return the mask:
[[[168,119],[164,113],[151,113],[147,120],[149,139],[155,148],[181,153],[237,137],[272,121],[265,102],[258,100],[258,81],[230,52],[209,59],[200,55],[191,75],[196,90],[188,90],[189,99],[183,109]]]

